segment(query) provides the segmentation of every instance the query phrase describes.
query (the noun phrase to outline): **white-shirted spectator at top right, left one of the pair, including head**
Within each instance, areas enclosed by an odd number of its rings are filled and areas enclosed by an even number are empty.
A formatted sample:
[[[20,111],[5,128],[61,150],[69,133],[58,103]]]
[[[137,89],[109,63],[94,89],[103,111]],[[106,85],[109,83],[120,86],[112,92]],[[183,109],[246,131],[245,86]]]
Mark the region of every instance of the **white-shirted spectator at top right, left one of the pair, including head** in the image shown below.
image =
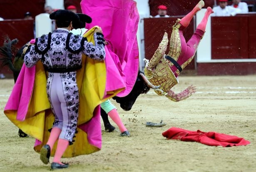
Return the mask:
[[[219,0],[219,6],[214,7],[214,11],[211,16],[235,16],[237,13],[241,13],[241,10],[228,5],[228,0]]]

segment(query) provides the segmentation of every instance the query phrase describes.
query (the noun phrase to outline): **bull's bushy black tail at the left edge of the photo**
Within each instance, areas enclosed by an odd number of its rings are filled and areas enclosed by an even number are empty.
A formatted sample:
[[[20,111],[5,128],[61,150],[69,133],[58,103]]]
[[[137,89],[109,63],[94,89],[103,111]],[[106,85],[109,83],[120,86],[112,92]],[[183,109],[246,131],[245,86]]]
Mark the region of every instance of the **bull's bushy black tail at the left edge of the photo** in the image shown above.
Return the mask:
[[[5,36],[5,41],[2,47],[0,47],[0,62],[2,64],[0,65],[0,70],[3,66],[8,66],[13,72],[19,72],[20,70],[15,69],[15,67],[12,64],[12,60],[14,58],[15,52],[17,51],[17,48],[14,47],[15,44],[17,44],[18,39],[10,40],[9,37]]]

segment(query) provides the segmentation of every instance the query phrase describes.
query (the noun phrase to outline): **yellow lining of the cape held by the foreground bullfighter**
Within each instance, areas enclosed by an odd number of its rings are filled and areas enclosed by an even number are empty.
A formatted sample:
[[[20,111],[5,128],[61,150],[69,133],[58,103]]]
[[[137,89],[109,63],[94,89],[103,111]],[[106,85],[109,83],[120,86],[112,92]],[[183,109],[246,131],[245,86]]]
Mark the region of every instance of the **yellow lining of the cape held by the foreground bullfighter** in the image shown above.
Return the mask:
[[[93,27],[88,30],[83,37],[87,37],[88,42],[94,43]],[[5,111],[5,115],[12,123],[17,125],[28,135],[40,140],[41,145],[34,147],[36,152],[40,152],[43,145],[47,143],[50,136],[48,129],[52,128],[54,115],[50,108],[50,102],[46,93],[47,76],[42,63],[36,64],[35,84],[26,119],[16,120],[17,111]],[[103,98],[106,85],[106,65],[104,61],[97,61],[85,55],[82,57],[82,69],[77,71],[77,85],[80,92],[80,107],[78,125],[86,123],[93,116],[94,109],[102,102],[117,95],[124,88],[111,91],[111,96]],[[108,94],[109,94],[108,93]],[[99,121],[100,122],[100,121]],[[78,133],[74,138],[73,145],[68,146],[62,157],[75,157],[78,155],[90,154],[99,150],[98,147],[90,145],[87,140],[87,133],[77,128]],[[52,149],[51,156],[55,154],[57,142]]]

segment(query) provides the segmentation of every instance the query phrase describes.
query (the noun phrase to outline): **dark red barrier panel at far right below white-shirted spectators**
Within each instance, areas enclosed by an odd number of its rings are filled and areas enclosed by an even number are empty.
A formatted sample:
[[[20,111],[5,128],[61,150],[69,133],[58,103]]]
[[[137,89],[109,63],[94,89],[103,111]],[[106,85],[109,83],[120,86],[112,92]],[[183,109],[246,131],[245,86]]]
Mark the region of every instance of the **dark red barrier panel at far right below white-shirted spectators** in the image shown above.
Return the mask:
[[[256,14],[211,17],[212,59],[256,59]]]

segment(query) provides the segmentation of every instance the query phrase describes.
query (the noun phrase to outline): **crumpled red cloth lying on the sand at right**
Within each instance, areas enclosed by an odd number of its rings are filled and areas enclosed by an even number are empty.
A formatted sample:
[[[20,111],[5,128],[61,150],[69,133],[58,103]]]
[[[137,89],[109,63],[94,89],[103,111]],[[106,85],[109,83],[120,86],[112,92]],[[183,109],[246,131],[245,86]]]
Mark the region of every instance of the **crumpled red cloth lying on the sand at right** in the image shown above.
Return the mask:
[[[202,132],[184,130],[182,128],[172,127],[169,130],[162,133],[167,139],[176,139],[181,141],[199,142],[209,146],[241,146],[248,145],[250,142],[244,138],[239,138],[234,135],[227,135],[216,132]]]

